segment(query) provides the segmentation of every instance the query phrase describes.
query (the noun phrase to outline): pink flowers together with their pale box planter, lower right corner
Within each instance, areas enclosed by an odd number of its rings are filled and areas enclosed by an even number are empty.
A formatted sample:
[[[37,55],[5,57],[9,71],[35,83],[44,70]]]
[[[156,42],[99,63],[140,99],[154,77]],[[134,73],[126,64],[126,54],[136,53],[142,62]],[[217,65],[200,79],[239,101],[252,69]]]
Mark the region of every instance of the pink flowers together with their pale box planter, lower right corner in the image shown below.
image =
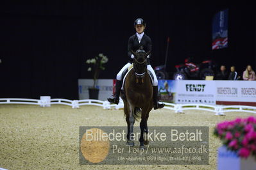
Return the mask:
[[[218,149],[218,169],[256,168],[256,118],[223,121],[214,128],[223,146]]]

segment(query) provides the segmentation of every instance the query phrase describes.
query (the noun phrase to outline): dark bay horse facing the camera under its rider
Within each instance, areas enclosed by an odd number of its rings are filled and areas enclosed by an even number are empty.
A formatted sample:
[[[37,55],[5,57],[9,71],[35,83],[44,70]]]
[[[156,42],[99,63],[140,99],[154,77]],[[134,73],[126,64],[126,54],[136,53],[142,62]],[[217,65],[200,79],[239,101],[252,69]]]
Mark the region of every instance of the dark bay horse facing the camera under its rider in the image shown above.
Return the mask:
[[[143,50],[138,50],[143,51]],[[124,82],[124,91],[121,98],[124,101],[124,114],[128,127],[127,143],[128,146],[134,146],[133,125],[135,120],[139,119],[141,114],[141,136],[140,148],[144,149],[144,144],[148,144],[148,117],[153,108],[153,86],[147,69],[147,56],[150,52],[133,52],[133,68],[126,75]],[[124,97],[125,95],[125,97]]]

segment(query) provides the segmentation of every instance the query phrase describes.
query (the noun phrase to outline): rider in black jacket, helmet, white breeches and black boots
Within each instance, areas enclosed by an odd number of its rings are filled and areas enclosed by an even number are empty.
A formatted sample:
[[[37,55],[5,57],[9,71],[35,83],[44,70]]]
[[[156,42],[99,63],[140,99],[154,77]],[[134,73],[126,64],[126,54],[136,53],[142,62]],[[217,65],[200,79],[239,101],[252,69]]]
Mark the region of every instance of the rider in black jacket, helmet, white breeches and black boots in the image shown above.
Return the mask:
[[[115,83],[115,97],[114,98],[108,98],[108,102],[118,104],[119,103],[119,95],[121,91],[121,86],[123,84],[123,73],[126,72],[129,68],[129,66],[132,65],[133,63],[133,54],[130,52],[131,50],[136,51],[140,49],[142,46],[143,49],[146,52],[151,51],[151,39],[149,36],[147,36],[144,33],[144,29],[146,28],[146,23],[143,19],[139,18],[136,19],[134,22],[134,27],[136,30],[136,34],[130,36],[128,40],[128,56],[130,58],[130,61],[123,66],[123,68],[120,70],[119,73],[117,73],[117,81]],[[154,81],[153,81],[153,104],[154,104],[154,109],[160,109],[164,107],[164,104],[159,104],[158,103],[158,81],[157,81],[157,76],[155,75],[155,72],[153,68],[151,67],[149,63],[149,58],[151,55],[147,57],[148,60],[148,70],[153,74]]]

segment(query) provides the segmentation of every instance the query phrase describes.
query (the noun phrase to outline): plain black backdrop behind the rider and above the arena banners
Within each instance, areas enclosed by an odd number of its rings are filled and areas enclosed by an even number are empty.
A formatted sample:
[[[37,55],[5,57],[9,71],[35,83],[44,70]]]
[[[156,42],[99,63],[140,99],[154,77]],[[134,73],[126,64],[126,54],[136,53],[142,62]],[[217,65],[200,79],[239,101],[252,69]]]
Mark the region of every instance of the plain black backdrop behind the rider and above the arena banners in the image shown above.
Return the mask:
[[[143,4],[143,2],[142,2]],[[229,8],[228,48],[211,50],[214,13]],[[187,56],[197,61],[212,57],[228,68],[246,65],[256,70],[255,9],[253,6],[181,6],[169,1],[110,4],[109,1],[44,1],[41,4],[0,6],[0,98],[78,98],[78,79],[91,78],[86,59],[99,53],[109,61],[100,78],[114,79],[128,62],[127,43],[135,33],[133,21],[146,20],[151,37],[151,65],[167,70]]]

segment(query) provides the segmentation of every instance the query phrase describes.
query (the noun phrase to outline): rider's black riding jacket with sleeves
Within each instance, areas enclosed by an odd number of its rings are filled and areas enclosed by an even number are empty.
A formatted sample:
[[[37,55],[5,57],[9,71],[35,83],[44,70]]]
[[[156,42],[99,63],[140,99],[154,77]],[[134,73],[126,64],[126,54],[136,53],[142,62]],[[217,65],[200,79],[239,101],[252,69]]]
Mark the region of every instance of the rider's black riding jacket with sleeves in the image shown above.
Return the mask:
[[[139,48],[143,46],[143,49],[146,52],[151,51],[152,49],[152,45],[151,45],[151,38],[149,38],[149,36],[147,36],[145,33],[141,38],[141,43],[139,43],[139,40],[137,38],[137,35],[132,35],[130,36],[129,40],[128,40],[128,56],[130,58],[129,63],[133,63],[133,59],[131,58],[132,56],[132,52],[131,50],[133,50],[134,52],[136,52],[136,50],[139,50]],[[151,54],[149,55],[151,56]],[[149,58],[148,58],[148,65],[149,65]]]

